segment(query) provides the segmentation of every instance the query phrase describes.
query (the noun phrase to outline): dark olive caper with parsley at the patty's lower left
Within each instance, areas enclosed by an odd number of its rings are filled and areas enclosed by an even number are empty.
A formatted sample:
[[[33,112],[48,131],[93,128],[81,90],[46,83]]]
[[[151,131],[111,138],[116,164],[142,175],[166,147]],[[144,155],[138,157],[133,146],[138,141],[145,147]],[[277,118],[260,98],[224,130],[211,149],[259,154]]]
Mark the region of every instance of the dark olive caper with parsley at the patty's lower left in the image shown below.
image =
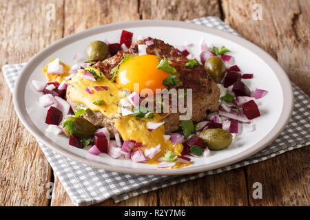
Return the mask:
[[[94,133],[96,132],[96,126],[94,126],[94,124],[90,123],[85,118],[72,117],[72,120],[73,120],[72,124],[75,128],[75,131],[72,135],[79,137],[79,138],[86,139],[86,138],[92,137]],[[63,128],[63,132],[68,137],[71,135],[70,131],[68,130],[68,126],[65,126]]]

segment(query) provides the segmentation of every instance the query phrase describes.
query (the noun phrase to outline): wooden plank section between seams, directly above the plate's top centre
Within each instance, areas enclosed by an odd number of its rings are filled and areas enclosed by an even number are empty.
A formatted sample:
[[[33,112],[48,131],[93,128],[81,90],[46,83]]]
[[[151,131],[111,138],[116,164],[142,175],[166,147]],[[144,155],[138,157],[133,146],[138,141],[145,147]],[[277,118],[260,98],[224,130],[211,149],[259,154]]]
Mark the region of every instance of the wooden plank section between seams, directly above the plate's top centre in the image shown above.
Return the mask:
[[[141,0],[142,19],[185,21],[200,17],[220,17],[218,0]]]

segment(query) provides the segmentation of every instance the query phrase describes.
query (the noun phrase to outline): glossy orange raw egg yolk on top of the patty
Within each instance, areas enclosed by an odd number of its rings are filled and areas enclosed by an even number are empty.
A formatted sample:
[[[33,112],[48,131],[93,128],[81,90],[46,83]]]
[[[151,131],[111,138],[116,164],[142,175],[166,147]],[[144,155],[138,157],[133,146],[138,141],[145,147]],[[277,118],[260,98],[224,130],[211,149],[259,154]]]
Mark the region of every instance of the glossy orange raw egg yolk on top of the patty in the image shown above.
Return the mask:
[[[120,65],[116,83],[123,89],[129,89],[130,91],[134,91],[134,83],[138,83],[139,94],[144,94],[141,93],[143,89],[151,89],[156,94],[156,89],[167,88],[163,85],[163,80],[169,74],[156,68],[160,63],[157,60],[158,58],[160,57],[149,54],[130,58],[130,60]]]

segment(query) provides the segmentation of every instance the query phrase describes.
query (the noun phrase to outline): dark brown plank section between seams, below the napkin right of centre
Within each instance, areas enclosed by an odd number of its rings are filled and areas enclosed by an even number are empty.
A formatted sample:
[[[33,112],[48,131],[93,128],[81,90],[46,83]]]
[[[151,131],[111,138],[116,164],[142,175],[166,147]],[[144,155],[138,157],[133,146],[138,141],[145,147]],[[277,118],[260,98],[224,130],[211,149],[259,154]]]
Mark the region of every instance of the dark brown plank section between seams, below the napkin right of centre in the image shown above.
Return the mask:
[[[158,190],[160,206],[247,206],[243,168]]]

